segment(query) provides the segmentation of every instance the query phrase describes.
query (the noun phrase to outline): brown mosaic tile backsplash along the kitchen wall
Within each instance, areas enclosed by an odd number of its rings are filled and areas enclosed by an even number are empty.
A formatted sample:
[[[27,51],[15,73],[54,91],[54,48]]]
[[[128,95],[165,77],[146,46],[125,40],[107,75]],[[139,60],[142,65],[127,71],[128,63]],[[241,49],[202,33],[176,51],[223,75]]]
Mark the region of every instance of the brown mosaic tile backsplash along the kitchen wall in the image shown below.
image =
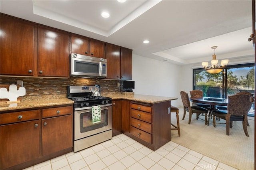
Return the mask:
[[[68,85],[100,85],[100,91],[120,92],[121,86],[117,87],[117,83],[122,85],[122,81],[70,77],[68,79],[54,78],[34,78],[34,77],[0,77],[0,84],[16,84],[17,81],[23,81],[26,88],[26,96],[39,95],[66,95],[66,86]]]

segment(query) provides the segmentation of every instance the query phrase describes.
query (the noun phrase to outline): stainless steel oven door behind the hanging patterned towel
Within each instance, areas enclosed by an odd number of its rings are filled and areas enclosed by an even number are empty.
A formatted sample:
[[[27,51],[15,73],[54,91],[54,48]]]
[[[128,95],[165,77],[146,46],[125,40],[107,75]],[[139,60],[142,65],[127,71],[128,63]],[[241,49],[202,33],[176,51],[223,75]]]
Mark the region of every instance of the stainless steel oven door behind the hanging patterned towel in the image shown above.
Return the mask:
[[[74,140],[112,129],[112,104],[100,105],[100,122],[92,123],[92,107],[77,108],[74,112]]]

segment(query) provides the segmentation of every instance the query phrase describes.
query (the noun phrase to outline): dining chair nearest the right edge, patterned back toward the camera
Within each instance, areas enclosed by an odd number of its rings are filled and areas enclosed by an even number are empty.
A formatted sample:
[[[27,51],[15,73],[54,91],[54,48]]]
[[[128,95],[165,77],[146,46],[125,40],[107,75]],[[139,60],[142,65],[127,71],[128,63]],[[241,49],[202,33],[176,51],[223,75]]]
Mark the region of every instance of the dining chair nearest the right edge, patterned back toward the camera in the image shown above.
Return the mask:
[[[244,133],[249,136],[247,131],[247,114],[252,106],[254,98],[247,94],[236,94],[228,96],[228,110],[212,111],[213,126],[216,127],[215,118],[226,120],[226,134],[229,135],[230,128],[232,128],[233,121],[242,121]]]

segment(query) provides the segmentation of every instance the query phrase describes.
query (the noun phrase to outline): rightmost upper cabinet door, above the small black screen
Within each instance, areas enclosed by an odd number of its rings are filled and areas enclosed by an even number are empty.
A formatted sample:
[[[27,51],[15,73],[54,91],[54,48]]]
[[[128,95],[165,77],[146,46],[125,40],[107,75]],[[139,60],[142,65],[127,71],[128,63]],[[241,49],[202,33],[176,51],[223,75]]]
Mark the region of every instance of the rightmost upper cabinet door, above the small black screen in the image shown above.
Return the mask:
[[[132,80],[132,50],[121,48],[121,79]]]

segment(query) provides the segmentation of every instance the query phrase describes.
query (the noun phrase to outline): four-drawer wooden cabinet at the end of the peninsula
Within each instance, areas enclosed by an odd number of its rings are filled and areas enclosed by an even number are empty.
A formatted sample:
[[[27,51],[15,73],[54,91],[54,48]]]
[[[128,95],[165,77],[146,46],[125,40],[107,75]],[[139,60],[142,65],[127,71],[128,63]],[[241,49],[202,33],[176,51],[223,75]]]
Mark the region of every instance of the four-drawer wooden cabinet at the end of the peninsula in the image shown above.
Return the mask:
[[[130,133],[128,136],[157,150],[170,141],[170,101],[140,103],[130,101]]]

